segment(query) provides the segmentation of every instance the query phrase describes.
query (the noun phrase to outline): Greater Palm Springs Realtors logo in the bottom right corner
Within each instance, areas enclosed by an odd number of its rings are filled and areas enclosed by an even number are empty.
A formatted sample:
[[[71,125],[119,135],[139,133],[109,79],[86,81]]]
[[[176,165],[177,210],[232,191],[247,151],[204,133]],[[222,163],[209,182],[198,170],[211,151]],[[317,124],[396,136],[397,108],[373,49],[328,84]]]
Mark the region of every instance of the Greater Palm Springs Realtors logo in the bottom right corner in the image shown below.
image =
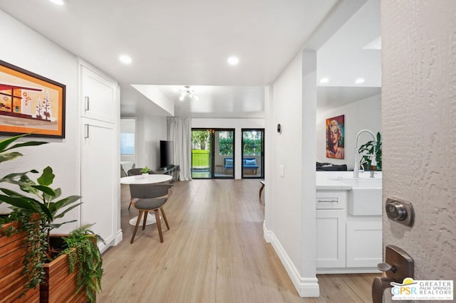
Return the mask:
[[[393,300],[452,300],[452,280],[413,280],[410,277],[403,283],[391,282]]]

